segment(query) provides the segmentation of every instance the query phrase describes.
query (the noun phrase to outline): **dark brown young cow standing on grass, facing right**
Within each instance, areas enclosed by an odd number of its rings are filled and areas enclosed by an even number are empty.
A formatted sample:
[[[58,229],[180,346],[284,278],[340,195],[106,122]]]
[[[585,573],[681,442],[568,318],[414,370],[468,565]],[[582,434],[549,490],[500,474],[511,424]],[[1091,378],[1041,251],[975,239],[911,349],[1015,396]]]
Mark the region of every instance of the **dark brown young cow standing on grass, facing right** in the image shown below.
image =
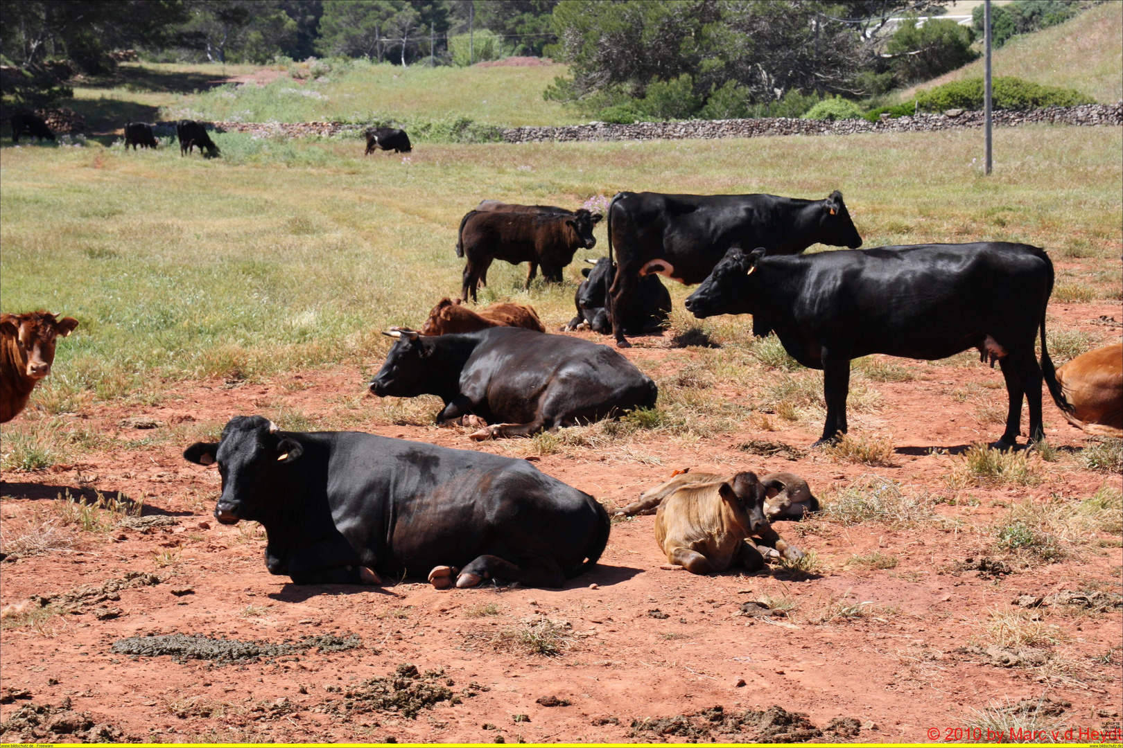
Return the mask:
[[[562,268],[573,261],[578,249],[596,246],[593,227],[600,220],[582,209],[569,213],[492,213],[472,211],[460,221],[457,255],[467,257],[464,265],[462,298],[476,299],[476,287],[499,259],[519,265],[530,262],[524,288],[538,273],[538,266]]]

